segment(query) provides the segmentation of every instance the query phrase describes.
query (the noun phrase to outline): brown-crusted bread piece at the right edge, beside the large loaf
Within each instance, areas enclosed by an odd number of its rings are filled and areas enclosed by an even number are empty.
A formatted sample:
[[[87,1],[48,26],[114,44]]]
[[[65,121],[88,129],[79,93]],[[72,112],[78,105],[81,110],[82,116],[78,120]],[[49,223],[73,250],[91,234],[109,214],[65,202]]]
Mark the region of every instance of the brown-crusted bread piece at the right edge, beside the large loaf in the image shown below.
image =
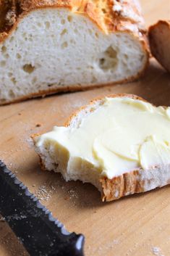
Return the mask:
[[[158,20],[148,29],[150,50],[158,62],[170,73],[170,21]],[[167,49],[169,45],[169,49]]]

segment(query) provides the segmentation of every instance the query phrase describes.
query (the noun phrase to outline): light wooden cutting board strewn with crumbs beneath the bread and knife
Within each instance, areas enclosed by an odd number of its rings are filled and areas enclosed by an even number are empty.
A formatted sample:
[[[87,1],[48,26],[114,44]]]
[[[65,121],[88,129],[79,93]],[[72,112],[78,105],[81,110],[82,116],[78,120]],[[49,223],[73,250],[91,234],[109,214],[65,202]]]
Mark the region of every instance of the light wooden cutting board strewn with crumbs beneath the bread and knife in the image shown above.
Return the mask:
[[[170,2],[143,0],[147,25],[170,20]],[[63,125],[69,115],[96,96],[130,93],[153,104],[170,105],[170,75],[152,59],[135,83],[48,96],[0,107],[0,158],[59,218],[69,231],[85,235],[86,256],[169,256],[170,186],[145,194],[101,202],[90,184],[66,183],[42,172],[30,135]],[[0,221],[0,255],[27,255],[6,223]]]

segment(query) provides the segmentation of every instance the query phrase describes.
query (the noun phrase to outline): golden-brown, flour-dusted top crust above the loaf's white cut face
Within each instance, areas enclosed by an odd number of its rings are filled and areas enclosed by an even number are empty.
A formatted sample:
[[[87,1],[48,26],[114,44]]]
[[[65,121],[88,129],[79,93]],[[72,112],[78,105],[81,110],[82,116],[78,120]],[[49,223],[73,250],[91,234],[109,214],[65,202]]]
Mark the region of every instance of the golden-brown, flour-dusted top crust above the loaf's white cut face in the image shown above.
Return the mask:
[[[135,1],[124,1],[122,10],[118,11],[114,9],[118,1],[114,0],[0,0],[0,41],[9,36],[17,23],[29,12],[35,9],[58,7],[68,8],[71,12],[88,16],[105,33],[129,30],[128,25],[133,25],[135,30],[132,32],[142,39],[145,27]],[[124,9],[129,7],[131,13],[127,15]]]

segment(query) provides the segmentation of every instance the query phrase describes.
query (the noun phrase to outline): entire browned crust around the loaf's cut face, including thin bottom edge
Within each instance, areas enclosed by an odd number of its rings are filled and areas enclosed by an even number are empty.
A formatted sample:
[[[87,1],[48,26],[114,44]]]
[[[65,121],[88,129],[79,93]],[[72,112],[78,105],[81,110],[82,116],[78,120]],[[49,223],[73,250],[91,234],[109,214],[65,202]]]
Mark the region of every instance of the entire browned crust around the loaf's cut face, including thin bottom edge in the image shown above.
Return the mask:
[[[71,13],[76,13],[79,15],[84,15],[88,17],[102,33],[114,33],[119,31],[119,33],[130,33],[137,40],[140,41],[142,45],[143,52],[146,54],[146,62],[143,69],[140,70],[137,75],[134,75],[128,79],[119,80],[114,83],[126,83],[135,80],[140,77],[148,66],[149,52],[148,43],[146,39],[146,31],[144,26],[143,16],[141,15],[140,8],[138,7],[137,0],[124,1],[122,4],[122,10],[116,10],[116,6],[119,1],[116,0],[0,0],[0,44],[3,44],[4,40],[9,37],[13,30],[17,28],[18,23],[30,12],[36,9],[43,8],[64,8],[69,9]],[[126,10],[130,7],[131,16],[126,15]],[[8,104],[12,102],[20,102],[24,99],[29,99],[35,96],[45,96],[47,94],[54,94],[58,92],[66,91],[78,91],[85,90],[87,88],[96,88],[103,86],[101,85],[89,85],[89,86],[57,86],[57,88],[49,88],[45,91],[38,91],[26,96],[20,96],[17,99],[9,101],[0,102],[0,104]]]

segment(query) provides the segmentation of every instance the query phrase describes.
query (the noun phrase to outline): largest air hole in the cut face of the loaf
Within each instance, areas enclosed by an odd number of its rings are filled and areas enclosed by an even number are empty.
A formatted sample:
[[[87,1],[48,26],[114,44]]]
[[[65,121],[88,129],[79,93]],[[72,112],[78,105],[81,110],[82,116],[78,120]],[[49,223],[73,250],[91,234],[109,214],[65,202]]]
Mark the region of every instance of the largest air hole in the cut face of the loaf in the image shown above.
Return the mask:
[[[117,51],[114,50],[112,46],[109,46],[109,48],[101,54],[99,67],[101,70],[107,71],[116,67],[117,63]]]

